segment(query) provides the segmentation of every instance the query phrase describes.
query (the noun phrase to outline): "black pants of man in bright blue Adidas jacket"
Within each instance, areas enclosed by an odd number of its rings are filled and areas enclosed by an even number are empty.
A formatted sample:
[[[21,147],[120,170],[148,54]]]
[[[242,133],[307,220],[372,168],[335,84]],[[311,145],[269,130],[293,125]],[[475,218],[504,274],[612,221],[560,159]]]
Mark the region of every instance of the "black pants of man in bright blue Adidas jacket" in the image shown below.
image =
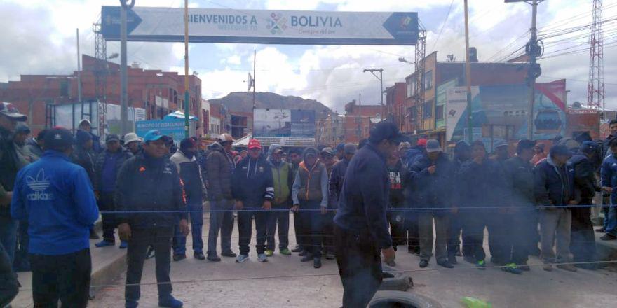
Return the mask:
[[[88,306],[92,261],[90,249],[66,255],[29,255],[34,307]]]

